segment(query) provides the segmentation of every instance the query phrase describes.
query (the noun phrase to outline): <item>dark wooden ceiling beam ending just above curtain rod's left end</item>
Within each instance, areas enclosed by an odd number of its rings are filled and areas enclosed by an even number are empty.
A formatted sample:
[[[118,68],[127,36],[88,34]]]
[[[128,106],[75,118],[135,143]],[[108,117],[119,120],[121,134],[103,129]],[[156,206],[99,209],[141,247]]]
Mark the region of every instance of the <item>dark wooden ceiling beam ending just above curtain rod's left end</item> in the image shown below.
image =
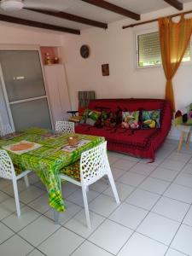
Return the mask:
[[[103,1],[103,0],[81,0],[85,3],[90,3],[93,4],[97,7],[100,7],[102,9],[108,9],[109,11],[112,11],[113,13],[119,14],[119,15],[123,15],[126,17],[129,17],[133,20],[140,20],[140,15],[131,12],[128,9],[124,9],[122,7],[119,7],[113,3],[109,3],[107,1]]]

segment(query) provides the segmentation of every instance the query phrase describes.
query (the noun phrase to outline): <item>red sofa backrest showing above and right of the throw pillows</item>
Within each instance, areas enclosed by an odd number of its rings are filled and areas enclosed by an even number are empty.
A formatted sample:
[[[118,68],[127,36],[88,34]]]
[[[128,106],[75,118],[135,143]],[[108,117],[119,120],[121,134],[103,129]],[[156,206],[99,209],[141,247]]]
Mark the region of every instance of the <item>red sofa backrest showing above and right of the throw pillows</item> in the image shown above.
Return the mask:
[[[161,110],[161,128],[169,130],[172,124],[172,111],[169,102],[163,99],[97,99],[90,101],[88,108],[90,109],[108,109],[115,112],[118,108],[123,111],[136,110]]]

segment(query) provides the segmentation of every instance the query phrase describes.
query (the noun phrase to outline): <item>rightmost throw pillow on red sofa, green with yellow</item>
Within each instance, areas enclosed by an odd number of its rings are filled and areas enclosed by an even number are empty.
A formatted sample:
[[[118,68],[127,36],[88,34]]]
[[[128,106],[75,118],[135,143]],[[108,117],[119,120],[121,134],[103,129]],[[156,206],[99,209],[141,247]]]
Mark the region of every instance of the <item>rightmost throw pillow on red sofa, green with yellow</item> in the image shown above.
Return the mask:
[[[160,128],[160,109],[142,112],[142,129],[151,128]]]

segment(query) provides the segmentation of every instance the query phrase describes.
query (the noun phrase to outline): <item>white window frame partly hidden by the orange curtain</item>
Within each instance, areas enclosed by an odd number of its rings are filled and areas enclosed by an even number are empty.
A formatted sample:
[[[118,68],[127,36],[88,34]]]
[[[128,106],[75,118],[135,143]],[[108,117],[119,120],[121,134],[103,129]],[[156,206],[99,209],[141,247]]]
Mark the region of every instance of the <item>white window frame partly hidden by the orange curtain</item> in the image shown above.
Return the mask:
[[[139,44],[138,44],[138,36],[152,33],[152,32],[159,32],[158,28],[151,28],[147,30],[141,30],[139,32],[135,32],[135,47],[136,47],[136,68],[137,69],[143,69],[143,68],[154,68],[154,67],[162,67],[162,60],[161,60],[161,55],[160,55],[160,64],[156,65],[147,65],[147,66],[139,66]],[[190,61],[182,61],[181,66],[185,65],[192,65],[192,36],[189,41],[190,44]]]

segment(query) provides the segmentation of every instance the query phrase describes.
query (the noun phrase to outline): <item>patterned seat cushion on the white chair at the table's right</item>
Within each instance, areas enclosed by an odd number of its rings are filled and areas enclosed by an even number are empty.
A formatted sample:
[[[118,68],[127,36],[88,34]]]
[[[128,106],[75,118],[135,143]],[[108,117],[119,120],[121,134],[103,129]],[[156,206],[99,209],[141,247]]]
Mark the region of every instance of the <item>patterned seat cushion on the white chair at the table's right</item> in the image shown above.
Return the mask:
[[[72,177],[73,179],[80,181],[80,161],[74,162],[72,165],[63,168],[61,174]]]

